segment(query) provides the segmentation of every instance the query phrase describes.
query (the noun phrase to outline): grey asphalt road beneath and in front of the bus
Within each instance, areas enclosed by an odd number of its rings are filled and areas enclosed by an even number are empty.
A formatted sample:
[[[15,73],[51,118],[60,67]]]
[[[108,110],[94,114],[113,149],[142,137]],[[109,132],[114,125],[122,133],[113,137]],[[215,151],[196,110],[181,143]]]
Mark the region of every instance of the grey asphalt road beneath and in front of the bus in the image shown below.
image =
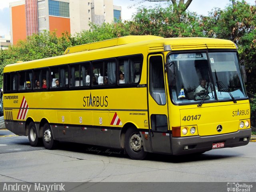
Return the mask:
[[[146,160],[138,161],[120,150],[83,144],[61,143],[58,150],[31,147],[27,137],[0,130],[0,181],[254,182],[255,185],[255,147],[256,142],[250,142],[247,146],[211,150],[201,155],[149,154]]]

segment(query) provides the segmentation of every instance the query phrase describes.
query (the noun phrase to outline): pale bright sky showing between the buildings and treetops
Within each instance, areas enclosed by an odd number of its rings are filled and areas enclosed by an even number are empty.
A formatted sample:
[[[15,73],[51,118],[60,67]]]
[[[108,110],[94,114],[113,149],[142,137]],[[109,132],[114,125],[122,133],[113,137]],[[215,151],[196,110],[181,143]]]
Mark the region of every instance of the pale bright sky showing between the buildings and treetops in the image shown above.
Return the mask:
[[[9,3],[15,2],[17,0],[0,0],[0,36],[10,35],[10,10]],[[139,6],[152,6],[159,4],[159,2],[146,2],[144,4],[136,4],[139,0],[113,0],[114,5],[122,6],[122,19],[130,20],[132,15],[136,12]],[[185,0],[186,2],[186,0]],[[246,0],[251,5],[255,5],[255,0]],[[230,3],[229,0],[193,0],[188,10],[191,12],[196,12],[197,14],[208,15],[213,8],[218,7],[224,9]],[[129,8],[130,5],[132,8]],[[166,3],[161,2],[164,6]]]

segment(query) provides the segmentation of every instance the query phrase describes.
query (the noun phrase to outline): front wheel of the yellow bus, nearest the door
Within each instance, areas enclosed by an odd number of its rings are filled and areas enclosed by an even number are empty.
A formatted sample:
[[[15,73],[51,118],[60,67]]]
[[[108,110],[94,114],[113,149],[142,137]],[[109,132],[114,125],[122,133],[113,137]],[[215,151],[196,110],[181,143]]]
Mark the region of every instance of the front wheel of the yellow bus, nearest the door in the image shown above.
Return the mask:
[[[147,155],[147,152],[145,152],[143,149],[140,132],[138,132],[136,128],[129,128],[126,131],[124,146],[131,159],[143,160]]]

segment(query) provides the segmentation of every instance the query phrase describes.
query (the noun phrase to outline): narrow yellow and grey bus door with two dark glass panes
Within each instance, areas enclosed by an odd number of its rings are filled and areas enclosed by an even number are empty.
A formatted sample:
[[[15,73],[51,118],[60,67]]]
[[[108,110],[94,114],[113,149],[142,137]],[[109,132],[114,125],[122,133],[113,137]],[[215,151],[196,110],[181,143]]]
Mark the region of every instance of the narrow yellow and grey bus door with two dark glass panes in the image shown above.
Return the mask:
[[[148,114],[152,151],[170,154],[170,131],[164,84],[163,55],[149,56],[148,64]]]

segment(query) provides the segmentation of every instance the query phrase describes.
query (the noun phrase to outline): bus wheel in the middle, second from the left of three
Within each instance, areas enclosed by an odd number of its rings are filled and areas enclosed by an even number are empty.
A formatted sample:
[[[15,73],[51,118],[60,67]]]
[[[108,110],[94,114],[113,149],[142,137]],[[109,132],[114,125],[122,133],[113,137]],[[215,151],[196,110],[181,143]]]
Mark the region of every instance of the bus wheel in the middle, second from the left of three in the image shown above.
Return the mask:
[[[48,150],[56,149],[58,141],[53,139],[52,130],[48,123],[44,124],[43,127],[43,143],[44,147]]]

